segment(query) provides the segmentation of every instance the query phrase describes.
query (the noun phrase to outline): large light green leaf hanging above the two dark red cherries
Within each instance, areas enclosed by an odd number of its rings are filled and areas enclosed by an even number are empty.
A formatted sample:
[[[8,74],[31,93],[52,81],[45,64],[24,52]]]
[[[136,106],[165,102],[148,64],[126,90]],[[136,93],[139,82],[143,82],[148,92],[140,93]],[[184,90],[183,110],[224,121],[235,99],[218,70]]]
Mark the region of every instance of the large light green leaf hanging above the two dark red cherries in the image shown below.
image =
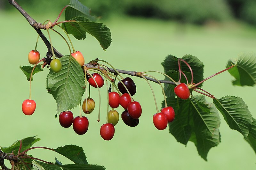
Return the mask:
[[[84,94],[84,72],[74,57],[62,56],[60,72],[50,72],[46,79],[46,88],[57,102],[57,113],[79,105]]]

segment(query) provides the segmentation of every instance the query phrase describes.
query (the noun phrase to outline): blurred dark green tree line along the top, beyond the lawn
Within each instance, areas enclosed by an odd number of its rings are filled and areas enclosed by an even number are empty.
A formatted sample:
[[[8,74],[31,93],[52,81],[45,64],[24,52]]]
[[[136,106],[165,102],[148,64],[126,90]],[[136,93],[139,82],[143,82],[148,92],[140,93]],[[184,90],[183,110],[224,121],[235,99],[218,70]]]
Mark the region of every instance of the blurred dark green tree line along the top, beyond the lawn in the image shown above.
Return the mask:
[[[68,0],[17,0],[25,9],[61,9]],[[174,19],[180,22],[204,24],[209,20],[225,21],[238,18],[256,25],[256,0],[80,0],[92,9],[92,15],[110,14]],[[51,6],[52,8],[49,8]],[[7,0],[0,0],[0,9],[9,10]]]

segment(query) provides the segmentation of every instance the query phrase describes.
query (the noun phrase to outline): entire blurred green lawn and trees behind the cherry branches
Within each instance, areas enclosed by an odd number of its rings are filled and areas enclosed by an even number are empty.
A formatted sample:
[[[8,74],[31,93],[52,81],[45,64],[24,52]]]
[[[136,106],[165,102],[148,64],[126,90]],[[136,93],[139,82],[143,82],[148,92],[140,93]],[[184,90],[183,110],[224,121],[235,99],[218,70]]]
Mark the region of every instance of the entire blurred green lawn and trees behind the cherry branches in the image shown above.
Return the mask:
[[[68,1],[60,0],[27,1],[29,4],[21,0],[18,2],[24,5],[24,9],[37,22],[44,22],[46,19],[54,21],[62,7],[68,4]],[[161,0],[159,3],[128,0],[81,2],[91,7],[93,14],[101,15],[101,22],[107,25],[112,33],[112,44],[107,52],[103,51],[99,42],[90,35],[84,41],[76,41],[72,37],[76,50],[84,54],[85,62],[99,57],[118,69],[163,71],[160,63],[165,56],[172,54],[182,57],[185,54],[192,54],[204,63],[204,78],[206,78],[223,70],[228,59],[236,58],[239,53],[256,53],[256,29],[253,25],[247,24],[253,24],[249,22],[250,19],[244,20],[247,17],[255,19],[253,12],[255,14],[256,8],[247,4],[250,10],[242,12],[242,9],[246,8],[245,2],[253,4],[254,1],[196,0],[193,4],[192,1],[189,1],[191,3],[189,4],[185,0],[179,1],[180,3],[174,0]],[[240,5],[235,5],[235,10],[230,3],[240,3]],[[25,116],[21,111],[21,103],[28,99],[29,82],[19,66],[29,65],[27,55],[35,46],[37,34],[25,18],[7,1],[0,1],[0,4],[4,9],[0,11],[2,21],[0,27],[2,55],[0,146],[9,146],[18,139],[38,135],[42,140],[37,142],[36,146],[56,148],[75,144],[84,148],[90,164],[103,165],[109,170],[255,169],[254,151],[240,133],[229,129],[222,115],[220,115],[221,143],[210,150],[208,162],[198,156],[193,143],[188,142],[185,147],[176,142],[175,138],[169,134],[168,128],[163,131],[157,130],[152,122],[152,116],[156,113],[153,96],[147,83],[140,78],[133,78],[137,85],[134,99],[142,106],[140,123],[137,127],[131,128],[120,120],[111,141],[104,141],[99,134],[100,126],[105,122],[107,114],[106,87],[101,89],[101,122],[96,123],[99,98],[97,90],[92,89],[91,95],[96,102],[96,109],[87,116],[90,122],[88,132],[79,136],[75,134],[72,127],[62,128],[58,120],[55,120],[56,103],[45,88],[47,68],[34,77],[32,99],[36,101],[37,107],[32,116]],[[176,5],[175,8],[173,5]],[[151,13],[147,14],[148,9],[151,8],[153,8]],[[140,9],[145,10],[147,15],[140,14]],[[192,14],[195,17],[192,17]],[[60,20],[63,19],[63,17],[60,18]],[[45,31],[44,33],[46,34]],[[54,47],[62,54],[68,54],[65,42],[56,33],[51,32],[51,36]],[[37,49],[44,57],[47,49],[41,40]],[[159,79],[164,78],[161,75],[155,76]],[[225,95],[241,97],[256,118],[255,87],[232,86],[232,79],[228,72],[224,72],[204,82],[203,88],[217,98]],[[152,85],[160,108],[163,100],[161,88],[159,85]],[[211,101],[211,99],[207,100]],[[117,111],[121,114],[123,109],[119,107]],[[75,116],[79,115],[79,108],[72,109],[72,112]],[[50,151],[32,150],[29,154],[46,161],[54,161],[54,157],[57,157],[62,163],[71,163]],[[6,162],[6,165],[9,163]]]

